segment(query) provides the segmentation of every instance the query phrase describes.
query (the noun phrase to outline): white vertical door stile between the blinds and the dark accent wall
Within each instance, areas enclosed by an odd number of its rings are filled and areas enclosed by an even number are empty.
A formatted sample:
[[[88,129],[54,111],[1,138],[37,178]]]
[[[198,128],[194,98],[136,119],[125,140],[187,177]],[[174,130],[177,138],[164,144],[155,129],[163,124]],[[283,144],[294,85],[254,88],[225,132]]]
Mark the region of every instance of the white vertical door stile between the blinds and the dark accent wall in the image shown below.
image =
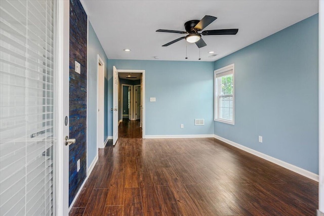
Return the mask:
[[[68,215],[69,212],[69,146],[64,145],[65,136],[69,135],[69,39],[70,5],[69,1],[57,3],[57,47],[56,61],[56,121],[57,141],[55,154],[54,215]]]

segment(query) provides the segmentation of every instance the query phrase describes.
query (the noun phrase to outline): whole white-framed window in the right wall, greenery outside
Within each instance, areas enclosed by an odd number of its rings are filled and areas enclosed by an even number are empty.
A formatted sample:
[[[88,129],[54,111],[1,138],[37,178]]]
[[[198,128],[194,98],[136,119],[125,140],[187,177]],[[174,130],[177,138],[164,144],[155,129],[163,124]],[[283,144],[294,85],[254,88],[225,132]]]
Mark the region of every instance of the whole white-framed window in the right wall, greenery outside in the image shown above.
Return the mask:
[[[214,120],[234,124],[234,64],[214,71]]]

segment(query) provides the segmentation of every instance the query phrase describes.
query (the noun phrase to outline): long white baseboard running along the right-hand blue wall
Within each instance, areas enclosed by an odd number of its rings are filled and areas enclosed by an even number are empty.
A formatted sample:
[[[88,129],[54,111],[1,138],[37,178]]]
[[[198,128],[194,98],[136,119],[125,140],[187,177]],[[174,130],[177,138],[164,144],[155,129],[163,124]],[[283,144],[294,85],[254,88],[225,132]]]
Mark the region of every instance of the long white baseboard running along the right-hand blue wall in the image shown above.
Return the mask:
[[[256,150],[253,150],[253,149],[250,149],[248,147],[242,146],[242,145],[240,145],[238,143],[232,142],[232,141],[227,140],[225,138],[222,138],[220,136],[214,135],[214,138],[218,139],[220,141],[223,141],[224,143],[227,143],[227,144],[229,144],[231,146],[234,146],[234,147],[236,147],[238,149],[249,152],[249,153],[251,153],[251,154],[253,154],[255,156],[258,156],[258,157],[261,157],[261,158],[263,158],[265,160],[268,160],[268,161],[270,161],[272,163],[275,163],[275,164],[277,164],[279,166],[282,166],[282,167],[284,167],[286,169],[294,171],[294,172],[296,172],[296,173],[298,173],[298,174],[300,174],[300,175],[302,175],[304,177],[307,177],[307,178],[309,178],[311,180],[314,180],[314,181],[318,182],[318,175],[314,174],[313,172],[310,172],[310,171],[308,171],[306,169],[300,168],[300,167],[295,166],[293,164],[287,163],[285,161],[282,161],[282,160],[279,160],[277,158],[271,157],[269,155],[263,154],[263,153],[258,152]]]

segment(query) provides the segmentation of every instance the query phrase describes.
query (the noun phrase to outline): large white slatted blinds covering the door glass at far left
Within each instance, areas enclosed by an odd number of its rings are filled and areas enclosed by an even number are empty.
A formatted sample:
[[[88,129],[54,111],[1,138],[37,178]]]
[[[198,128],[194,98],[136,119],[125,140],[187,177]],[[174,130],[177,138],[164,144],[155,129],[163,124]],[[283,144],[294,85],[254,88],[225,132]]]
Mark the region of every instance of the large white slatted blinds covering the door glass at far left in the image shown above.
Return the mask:
[[[0,1],[0,215],[53,214],[54,1]]]

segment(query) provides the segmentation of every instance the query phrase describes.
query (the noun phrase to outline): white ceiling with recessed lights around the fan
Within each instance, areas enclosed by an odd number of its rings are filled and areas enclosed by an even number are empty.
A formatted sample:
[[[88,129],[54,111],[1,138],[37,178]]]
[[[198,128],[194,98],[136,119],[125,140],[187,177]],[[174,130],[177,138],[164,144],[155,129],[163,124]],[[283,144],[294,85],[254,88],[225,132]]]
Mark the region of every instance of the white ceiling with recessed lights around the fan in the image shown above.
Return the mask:
[[[210,15],[218,19],[204,30],[239,29],[236,35],[203,36],[200,61],[216,61],[318,13],[318,0],[81,2],[109,59],[185,61],[187,45],[187,61],[198,61],[199,49],[184,39],[161,47],[183,34],[155,31],[185,30],[186,21]],[[209,51],[217,56],[209,58]]]

